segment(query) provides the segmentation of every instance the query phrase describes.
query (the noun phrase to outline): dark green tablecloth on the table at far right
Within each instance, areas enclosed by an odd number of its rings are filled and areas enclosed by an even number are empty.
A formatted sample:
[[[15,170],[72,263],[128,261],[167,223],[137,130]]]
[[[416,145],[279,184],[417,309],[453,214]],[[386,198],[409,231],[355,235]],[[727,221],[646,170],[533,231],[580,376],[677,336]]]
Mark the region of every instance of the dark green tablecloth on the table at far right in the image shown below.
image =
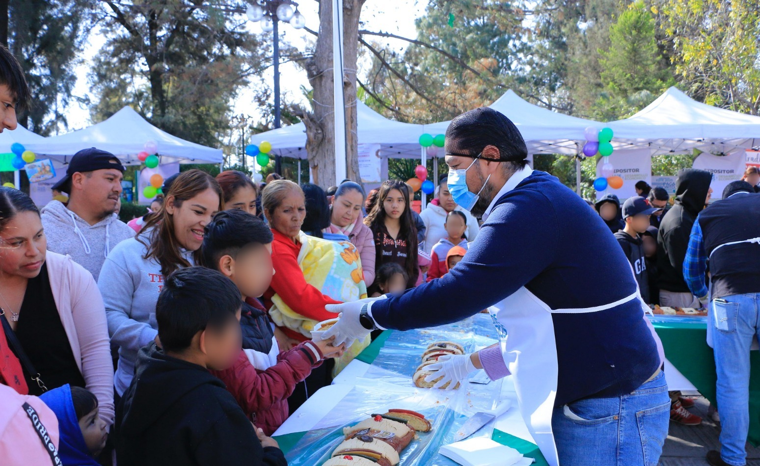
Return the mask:
[[[652,323],[663,342],[665,357],[705,398],[715,400],[715,359],[707,344],[707,323]],[[753,446],[760,446],[760,351],[750,354],[749,436]],[[665,374],[667,378],[667,373]],[[717,407],[720,411],[720,406]]]

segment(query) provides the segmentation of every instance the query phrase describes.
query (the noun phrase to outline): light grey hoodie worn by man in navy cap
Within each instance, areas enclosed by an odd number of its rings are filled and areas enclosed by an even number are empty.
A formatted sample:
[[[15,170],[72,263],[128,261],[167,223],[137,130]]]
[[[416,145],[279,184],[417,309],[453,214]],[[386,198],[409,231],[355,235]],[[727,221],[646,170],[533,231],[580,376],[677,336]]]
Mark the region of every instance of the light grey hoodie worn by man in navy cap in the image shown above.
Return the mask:
[[[48,250],[71,256],[97,281],[108,253],[120,242],[135,237],[135,230],[116,214],[90,225],[65,205],[52,200],[42,210]]]

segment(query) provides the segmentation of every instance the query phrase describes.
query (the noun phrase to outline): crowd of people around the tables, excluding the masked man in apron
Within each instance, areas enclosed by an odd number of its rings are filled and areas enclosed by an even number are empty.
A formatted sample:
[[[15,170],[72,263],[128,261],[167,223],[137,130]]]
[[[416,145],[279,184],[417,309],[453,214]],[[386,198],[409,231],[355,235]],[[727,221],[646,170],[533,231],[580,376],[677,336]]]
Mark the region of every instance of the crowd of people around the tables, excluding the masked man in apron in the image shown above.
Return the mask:
[[[29,92],[2,48],[0,61],[0,121],[12,130]],[[451,173],[464,176],[474,163]],[[416,213],[403,181],[366,193],[350,180],[324,190],[197,169],[167,178],[147,215],[124,223],[116,215],[124,172],[117,156],[92,147],[71,158],[59,195],[42,209],[0,187],[8,464],[287,464],[271,435],[371,338],[314,339],[315,323],[337,316],[334,305],[442,279],[480,232],[473,205],[454,201],[447,177]],[[521,179],[531,172],[521,168]],[[711,174],[686,168],[672,203],[640,181],[639,196],[622,205],[614,194],[593,204],[643,301],[714,301],[724,450],[711,464],[743,464],[760,276],[756,251],[734,246],[760,238],[758,182],[748,168],[705,209]],[[461,178],[452,183],[461,190]],[[501,195],[489,193],[485,209],[467,194],[459,199],[482,217]],[[679,392],[670,400],[671,420],[701,422],[686,410],[692,400]]]

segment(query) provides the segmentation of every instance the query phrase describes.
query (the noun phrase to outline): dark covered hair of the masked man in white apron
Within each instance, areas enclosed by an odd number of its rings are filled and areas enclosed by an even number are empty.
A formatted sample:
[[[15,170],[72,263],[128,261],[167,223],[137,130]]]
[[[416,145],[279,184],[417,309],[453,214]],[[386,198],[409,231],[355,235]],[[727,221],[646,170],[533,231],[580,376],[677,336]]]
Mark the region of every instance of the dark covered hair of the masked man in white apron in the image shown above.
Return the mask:
[[[500,162],[509,168],[527,165],[527,147],[509,118],[489,107],[464,112],[446,128],[446,155],[477,157],[486,146],[496,146]],[[487,158],[484,158],[487,159]]]

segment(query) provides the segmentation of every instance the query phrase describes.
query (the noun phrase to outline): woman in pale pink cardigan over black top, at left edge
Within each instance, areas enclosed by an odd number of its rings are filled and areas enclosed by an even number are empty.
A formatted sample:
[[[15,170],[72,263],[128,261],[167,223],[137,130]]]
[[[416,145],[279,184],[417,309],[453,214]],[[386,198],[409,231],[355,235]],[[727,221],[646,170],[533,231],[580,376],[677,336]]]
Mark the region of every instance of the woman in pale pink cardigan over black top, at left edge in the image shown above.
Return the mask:
[[[110,425],[113,366],[103,298],[90,272],[46,249],[31,198],[0,187],[0,319],[23,373],[19,383],[5,376],[4,383],[24,395],[66,383],[84,387],[97,396],[100,416]]]

